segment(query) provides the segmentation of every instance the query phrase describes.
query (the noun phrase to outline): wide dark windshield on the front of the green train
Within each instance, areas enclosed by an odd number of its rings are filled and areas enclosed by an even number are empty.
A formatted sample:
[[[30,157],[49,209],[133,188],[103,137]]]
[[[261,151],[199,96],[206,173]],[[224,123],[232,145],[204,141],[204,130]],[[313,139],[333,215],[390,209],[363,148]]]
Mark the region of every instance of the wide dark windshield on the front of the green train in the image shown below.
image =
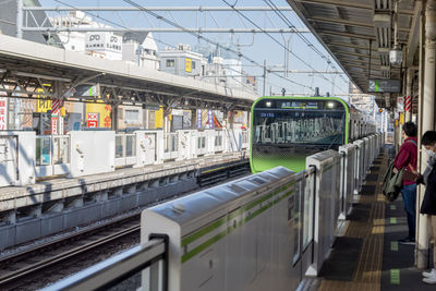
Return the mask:
[[[346,110],[336,100],[265,99],[253,111],[253,143],[319,145],[344,143]]]

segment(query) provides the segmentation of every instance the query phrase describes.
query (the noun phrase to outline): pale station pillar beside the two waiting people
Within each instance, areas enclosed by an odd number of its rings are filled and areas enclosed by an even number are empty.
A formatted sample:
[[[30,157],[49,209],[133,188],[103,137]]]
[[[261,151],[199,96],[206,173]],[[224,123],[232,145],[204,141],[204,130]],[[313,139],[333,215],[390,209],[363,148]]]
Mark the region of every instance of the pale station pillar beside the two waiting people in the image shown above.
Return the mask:
[[[424,44],[421,44],[424,45]],[[425,8],[425,51],[424,58],[420,58],[420,62],[424,62],[420,66],[424,69],[424,82],[422,96],[420,96],[420,106],[422,108],[420,124],[421,133],[435,129],[435,59],[436,59],[436,0],[427,1]],[[421,150],[420,170],[424,171],[427,165],[428,156],[425,150]],[[421,206],[424,196],[423,187],[419,191],[417,206]],[[419,209],[419,207],[417,207]],[[427,216],[417,211],[417,233],[416,233],[416,267],[427,268],[428,266],[428,223]]]

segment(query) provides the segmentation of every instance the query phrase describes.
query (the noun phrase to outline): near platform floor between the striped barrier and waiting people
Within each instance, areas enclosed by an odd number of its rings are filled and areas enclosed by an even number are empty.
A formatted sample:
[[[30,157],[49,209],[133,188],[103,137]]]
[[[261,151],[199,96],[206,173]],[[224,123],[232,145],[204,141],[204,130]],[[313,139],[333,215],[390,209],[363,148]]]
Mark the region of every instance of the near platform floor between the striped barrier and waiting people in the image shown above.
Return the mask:
[[[436,290],[436,284],[422,282],[422,270],[413,266],[414,245],[398,243],[408,234],[403,204],[401,197],[387,203],[382,194],[389,150],[386,147],[375,160],[348,216],[348,228],[323,265],[320,291]]]

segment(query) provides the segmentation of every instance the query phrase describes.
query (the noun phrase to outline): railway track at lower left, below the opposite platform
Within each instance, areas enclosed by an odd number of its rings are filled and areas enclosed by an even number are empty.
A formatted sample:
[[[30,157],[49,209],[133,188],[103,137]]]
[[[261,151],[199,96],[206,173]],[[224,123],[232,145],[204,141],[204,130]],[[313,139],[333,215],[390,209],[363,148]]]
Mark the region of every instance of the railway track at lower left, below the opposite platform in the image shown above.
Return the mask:
[[[107,222],[68,238],[2,257],[0,258],[0,290],[41,288],[45,281],[51,281],[45,279],[45,274],[64,277],[71,264],[80,263],[84,267],[94,264],[93,257],[96,255],[93,255],[93,252],[104,251],[110,256],[113,253],[113,250],[110,250],[113,246],[110,245],[120,245],[123,240],[133,242],[133,245],[137,244],[140,230],[140,215],[135,214],[119,221]],[[87,260],[89,264],[86,263]],[[57,269],[60,269],[61,274],[56,274]]]

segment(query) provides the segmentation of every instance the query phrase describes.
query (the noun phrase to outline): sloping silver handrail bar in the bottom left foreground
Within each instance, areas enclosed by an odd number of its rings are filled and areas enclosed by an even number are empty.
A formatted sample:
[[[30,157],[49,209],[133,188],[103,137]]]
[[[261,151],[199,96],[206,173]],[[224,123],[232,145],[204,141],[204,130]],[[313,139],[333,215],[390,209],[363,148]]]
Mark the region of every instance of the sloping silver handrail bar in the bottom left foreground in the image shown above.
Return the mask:
[[[165,259],[166,254],[167,242],[165,239],[153,239],[145,244],[132,247],[43,290],[82,291],[109,288],[152,266],[157,259]],[[167,279],[165,276],[159,277],[162,280]]]

